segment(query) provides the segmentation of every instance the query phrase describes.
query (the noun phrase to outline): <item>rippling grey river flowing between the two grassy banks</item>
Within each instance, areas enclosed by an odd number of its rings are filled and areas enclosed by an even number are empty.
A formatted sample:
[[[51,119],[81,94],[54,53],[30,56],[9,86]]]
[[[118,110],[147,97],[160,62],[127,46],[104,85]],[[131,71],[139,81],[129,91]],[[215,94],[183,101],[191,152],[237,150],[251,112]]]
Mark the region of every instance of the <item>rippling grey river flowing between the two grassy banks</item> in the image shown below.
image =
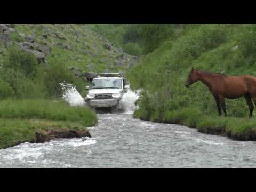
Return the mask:
[[[124,113],[99,113],[90,133],[0,149],[0,167],[256,167],[256,142],[140,121],[127,106]]]

